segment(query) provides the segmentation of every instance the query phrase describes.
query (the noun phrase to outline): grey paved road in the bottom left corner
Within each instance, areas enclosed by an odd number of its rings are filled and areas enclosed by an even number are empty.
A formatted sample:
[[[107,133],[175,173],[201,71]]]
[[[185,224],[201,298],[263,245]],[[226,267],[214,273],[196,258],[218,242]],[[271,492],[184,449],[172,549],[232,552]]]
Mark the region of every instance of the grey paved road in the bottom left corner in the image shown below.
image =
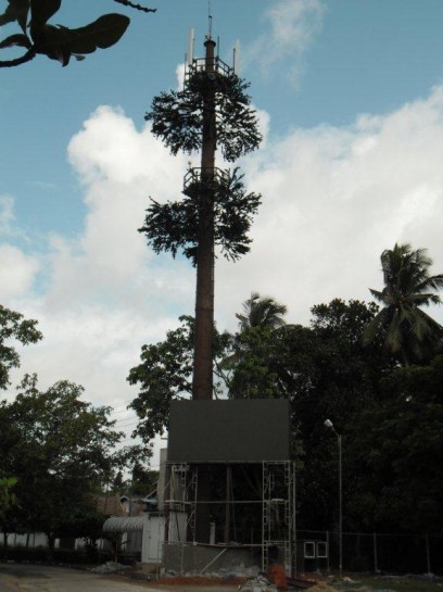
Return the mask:
[[[0,592],[159,592],[130,580],[43,565],[0,564]],[[178,592],[178,591],[177,591]]]

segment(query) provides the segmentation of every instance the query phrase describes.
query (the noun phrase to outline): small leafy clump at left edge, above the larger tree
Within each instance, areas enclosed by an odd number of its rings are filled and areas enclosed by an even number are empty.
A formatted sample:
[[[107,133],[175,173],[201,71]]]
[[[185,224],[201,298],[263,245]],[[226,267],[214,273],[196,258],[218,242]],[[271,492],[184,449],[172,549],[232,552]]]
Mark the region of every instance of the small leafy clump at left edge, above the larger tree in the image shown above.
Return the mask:
[[[10,370],[20,367],[20,355],[14,348],[14,340],[27,345],[37,343],[41,338],[37,320],[25,319],[22,314],[0,304],[0,389],[5,389],[10,383]]]

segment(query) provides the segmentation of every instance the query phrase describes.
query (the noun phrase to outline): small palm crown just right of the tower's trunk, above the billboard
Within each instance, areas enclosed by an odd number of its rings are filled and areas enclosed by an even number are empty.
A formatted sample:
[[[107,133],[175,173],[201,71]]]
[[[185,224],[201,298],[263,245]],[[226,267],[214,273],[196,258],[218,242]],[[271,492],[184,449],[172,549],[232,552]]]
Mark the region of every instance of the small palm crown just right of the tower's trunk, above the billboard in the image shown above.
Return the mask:
[[[240,320],[240,331],[250,327],[273,330],[286,325],[283,317],[287,311],[287,306],[274,298],[252,292],[251,298],[243,302],[243,314],[236,314],[236,317]]]

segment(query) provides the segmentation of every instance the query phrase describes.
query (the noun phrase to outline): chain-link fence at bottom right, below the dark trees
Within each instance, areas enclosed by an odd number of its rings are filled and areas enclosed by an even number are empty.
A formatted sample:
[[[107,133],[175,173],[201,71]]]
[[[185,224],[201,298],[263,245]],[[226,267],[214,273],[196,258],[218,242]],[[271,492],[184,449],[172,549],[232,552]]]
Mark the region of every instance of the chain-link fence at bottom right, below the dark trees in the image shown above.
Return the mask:
[[[298,531],[296,539],[300,567],[339,568],[339,532],[303,530]],[[443,575],[443,537],[343,532],[342,554],[345,570]]]

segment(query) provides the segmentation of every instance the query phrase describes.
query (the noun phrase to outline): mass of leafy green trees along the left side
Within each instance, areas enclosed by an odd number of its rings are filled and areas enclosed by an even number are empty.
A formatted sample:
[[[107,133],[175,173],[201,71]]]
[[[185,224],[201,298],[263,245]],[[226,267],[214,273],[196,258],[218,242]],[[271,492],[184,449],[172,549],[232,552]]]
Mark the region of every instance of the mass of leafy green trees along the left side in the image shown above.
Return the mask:
[[[20,365],[16,343],[42,338],[37,320],[0,306],[0,386]],[[15,341],[15,343],[14,343]],[[138,487],[152,489],[149,444],[116,450],[124,433],[110,419],[111,407],[83,400],[83,387],[61,380],[46,390],[37,375],[25,375],[11,400],[0,401],[0,530],[41,531],[54,538],[96,537],[103,524],[97,495],[119,470]],[[143,493],[148,493],[144,491]]]

